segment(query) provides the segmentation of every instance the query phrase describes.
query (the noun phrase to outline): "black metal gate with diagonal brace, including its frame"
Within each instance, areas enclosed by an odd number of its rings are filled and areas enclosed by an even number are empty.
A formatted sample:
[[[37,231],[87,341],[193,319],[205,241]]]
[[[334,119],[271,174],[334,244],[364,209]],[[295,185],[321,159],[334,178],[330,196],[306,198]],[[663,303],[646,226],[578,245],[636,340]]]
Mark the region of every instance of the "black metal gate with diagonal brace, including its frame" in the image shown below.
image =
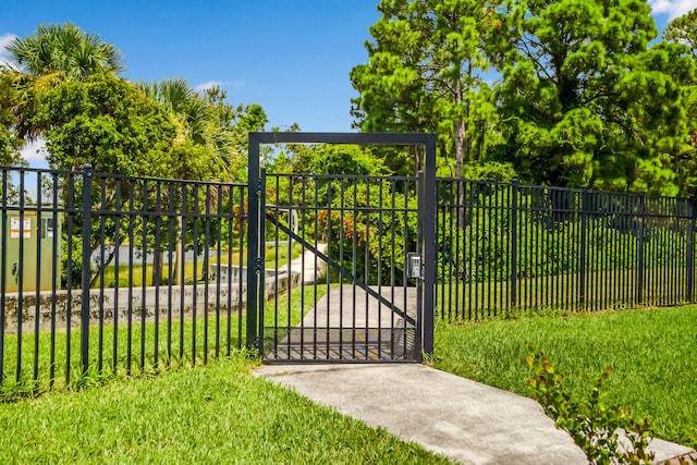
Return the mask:
[[[268,173],[261,144],[420,145],[426,169]],[[420,362],[432,353],[435,150],[430,134],[249,134],[247,341],[265,360]]]

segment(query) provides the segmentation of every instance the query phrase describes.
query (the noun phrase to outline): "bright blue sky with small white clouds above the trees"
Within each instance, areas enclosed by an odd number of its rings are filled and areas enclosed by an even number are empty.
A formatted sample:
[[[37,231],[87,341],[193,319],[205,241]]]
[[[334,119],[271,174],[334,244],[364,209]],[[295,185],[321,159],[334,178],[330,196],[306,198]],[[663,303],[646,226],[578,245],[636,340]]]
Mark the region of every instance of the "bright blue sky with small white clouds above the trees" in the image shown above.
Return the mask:
[[[270,126],[351,131],[348,72],[367,61],[378,1],[0,0],[0,50],[38,24],[71,21],[117,46],[130,79],[217,83],[231,103],[261,105]],[[659,27],[697,8],[697,0],[649,3]]]

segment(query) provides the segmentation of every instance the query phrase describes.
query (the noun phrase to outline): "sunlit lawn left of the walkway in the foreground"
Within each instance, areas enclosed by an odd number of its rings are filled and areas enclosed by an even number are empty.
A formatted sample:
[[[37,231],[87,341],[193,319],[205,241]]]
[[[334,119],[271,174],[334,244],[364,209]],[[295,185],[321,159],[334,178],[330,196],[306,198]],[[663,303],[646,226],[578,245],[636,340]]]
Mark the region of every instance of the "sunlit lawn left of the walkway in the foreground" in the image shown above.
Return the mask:
[[[448,463],[249,374],[241,355],[0,404],[0,463]]]

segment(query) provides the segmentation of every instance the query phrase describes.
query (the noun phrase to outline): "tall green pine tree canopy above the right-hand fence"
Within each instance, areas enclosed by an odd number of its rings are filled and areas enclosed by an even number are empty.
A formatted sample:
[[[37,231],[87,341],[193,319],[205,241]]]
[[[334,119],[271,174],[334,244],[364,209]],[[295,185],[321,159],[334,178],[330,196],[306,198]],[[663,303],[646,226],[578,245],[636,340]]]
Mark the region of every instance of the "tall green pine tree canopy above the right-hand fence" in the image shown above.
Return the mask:
[[[378,10],[368,62],[351,72],[356,126],[437,132],[439,163],[455,176],[514,170],[538,184],[692,189],[694,13],[653,42],[643,0],[382,0]]]

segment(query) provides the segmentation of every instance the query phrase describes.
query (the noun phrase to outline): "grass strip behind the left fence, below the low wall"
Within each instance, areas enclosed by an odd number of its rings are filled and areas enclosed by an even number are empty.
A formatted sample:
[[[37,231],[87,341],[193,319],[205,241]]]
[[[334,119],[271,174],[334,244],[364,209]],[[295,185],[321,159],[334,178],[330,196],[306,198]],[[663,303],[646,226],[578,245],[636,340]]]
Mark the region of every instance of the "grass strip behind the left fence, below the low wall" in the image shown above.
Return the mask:
[[[289,309],[291,323],[297,325],[326,292],[326,286],[296,287],[278,296],[277,302],[280,308]],[[49,389],[192,367],[230,355],[246,344],[246,315],[227,309],[204,314],[203,308],[196,315],[184,319],[159,315],[157,323],[142,323],[140,317],[133,315],[131,325],[121,317],[118,325],[112,318],[106,318],[103,326],[90,326],[86,374],[82,372],[80,328],[58,327],[53,335],[50,331],[35,333],[33,330],[21,338],[4,334],[0,351],[3,377],[0,402],[38,395]],[[265,320],[266,326],[272,325],[273,315],[267,311]]]

